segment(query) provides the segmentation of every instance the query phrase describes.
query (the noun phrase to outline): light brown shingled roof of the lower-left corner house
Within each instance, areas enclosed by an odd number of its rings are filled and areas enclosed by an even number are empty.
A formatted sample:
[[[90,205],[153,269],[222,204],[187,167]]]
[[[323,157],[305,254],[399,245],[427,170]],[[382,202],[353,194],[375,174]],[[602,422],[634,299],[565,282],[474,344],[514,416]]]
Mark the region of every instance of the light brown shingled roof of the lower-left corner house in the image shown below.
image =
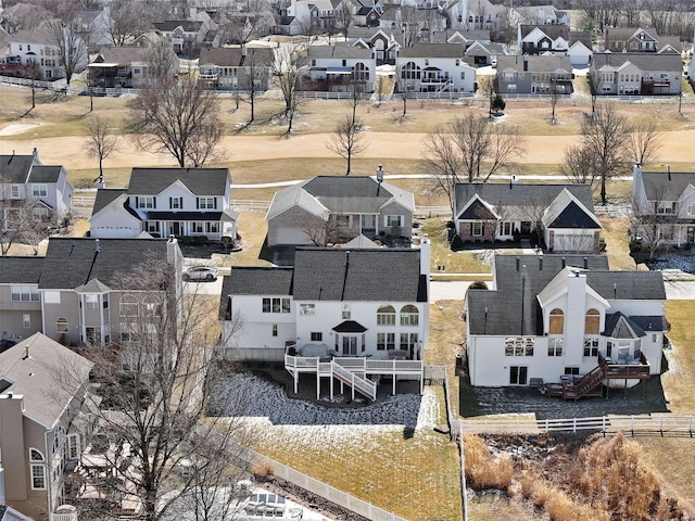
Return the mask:
[[[87,358],[41,333],[35,333],[0,354],[2,376],[13,382],[4,393],[23,395],[24,415],[47,429],[61,418],[88,379],[92,366]]]

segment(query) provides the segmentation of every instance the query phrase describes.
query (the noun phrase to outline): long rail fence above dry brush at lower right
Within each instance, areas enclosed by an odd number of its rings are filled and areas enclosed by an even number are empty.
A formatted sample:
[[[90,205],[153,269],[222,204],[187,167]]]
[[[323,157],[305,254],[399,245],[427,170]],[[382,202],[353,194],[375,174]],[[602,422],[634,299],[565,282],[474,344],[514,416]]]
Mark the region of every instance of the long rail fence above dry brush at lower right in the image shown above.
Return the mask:
[[[546,419],[476,418],[462,419],[460,432],[470,434],[538,434],[540,432],[596,431],[623,432],[631,436],[690,436],[695,434],[694,416],[599,416],[594,418]]]

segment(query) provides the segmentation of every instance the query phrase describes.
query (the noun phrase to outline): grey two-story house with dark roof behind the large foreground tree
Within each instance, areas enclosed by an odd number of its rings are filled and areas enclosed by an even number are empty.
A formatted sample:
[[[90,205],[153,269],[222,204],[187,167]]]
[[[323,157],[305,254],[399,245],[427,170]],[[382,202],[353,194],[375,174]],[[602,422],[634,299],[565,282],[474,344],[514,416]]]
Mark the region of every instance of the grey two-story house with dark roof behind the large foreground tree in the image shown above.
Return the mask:
[[[41,331],[63,345],[126,341],[148,313],[164,309],[161,277],[148,271],[163,266],[165,291],[178,297],[181,263],[175,239],[51,238],[38,284]]]

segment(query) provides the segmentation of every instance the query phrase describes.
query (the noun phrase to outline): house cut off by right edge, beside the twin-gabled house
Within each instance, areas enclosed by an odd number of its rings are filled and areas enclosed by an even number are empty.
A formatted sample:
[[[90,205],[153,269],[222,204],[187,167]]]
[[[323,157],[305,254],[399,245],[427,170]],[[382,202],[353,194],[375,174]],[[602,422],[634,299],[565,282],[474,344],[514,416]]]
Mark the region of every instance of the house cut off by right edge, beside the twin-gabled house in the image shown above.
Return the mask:
[[[695,173],[632,170],[633,234],[647,247],[695,243]]]

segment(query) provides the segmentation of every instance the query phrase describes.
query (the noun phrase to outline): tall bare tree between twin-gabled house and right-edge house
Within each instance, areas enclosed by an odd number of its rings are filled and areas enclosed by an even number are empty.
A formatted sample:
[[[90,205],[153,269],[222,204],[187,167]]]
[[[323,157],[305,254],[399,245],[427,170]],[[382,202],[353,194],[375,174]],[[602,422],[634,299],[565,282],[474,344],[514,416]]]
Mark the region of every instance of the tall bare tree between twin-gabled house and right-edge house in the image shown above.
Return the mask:
[[[598,105],[593,120],[586,118],[582,123],[582,140],[595,165],[604,205],[607,181],[630,164],[629,134],[628,118],[609,103]]]

